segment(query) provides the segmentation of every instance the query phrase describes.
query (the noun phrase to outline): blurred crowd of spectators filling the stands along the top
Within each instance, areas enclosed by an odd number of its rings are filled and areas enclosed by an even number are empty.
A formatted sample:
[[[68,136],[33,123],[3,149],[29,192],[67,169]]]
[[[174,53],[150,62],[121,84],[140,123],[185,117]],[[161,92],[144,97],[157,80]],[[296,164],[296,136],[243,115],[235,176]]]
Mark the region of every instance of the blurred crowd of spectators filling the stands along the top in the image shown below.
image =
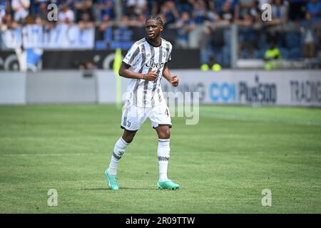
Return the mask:
[[[175,28],[175,48],[200,48],[201,62],[230,64],[230,25],[238,24],[238,57],[264,58],[272,41],[282,58],[321,57],[321,0],[0,0],[0,26],[43,24],[49,4],[58,6],[58,23],[81,28],[123,24],[143,26],[146,16],[159,14]],[[263,4],[272,21],[263,21]]]

